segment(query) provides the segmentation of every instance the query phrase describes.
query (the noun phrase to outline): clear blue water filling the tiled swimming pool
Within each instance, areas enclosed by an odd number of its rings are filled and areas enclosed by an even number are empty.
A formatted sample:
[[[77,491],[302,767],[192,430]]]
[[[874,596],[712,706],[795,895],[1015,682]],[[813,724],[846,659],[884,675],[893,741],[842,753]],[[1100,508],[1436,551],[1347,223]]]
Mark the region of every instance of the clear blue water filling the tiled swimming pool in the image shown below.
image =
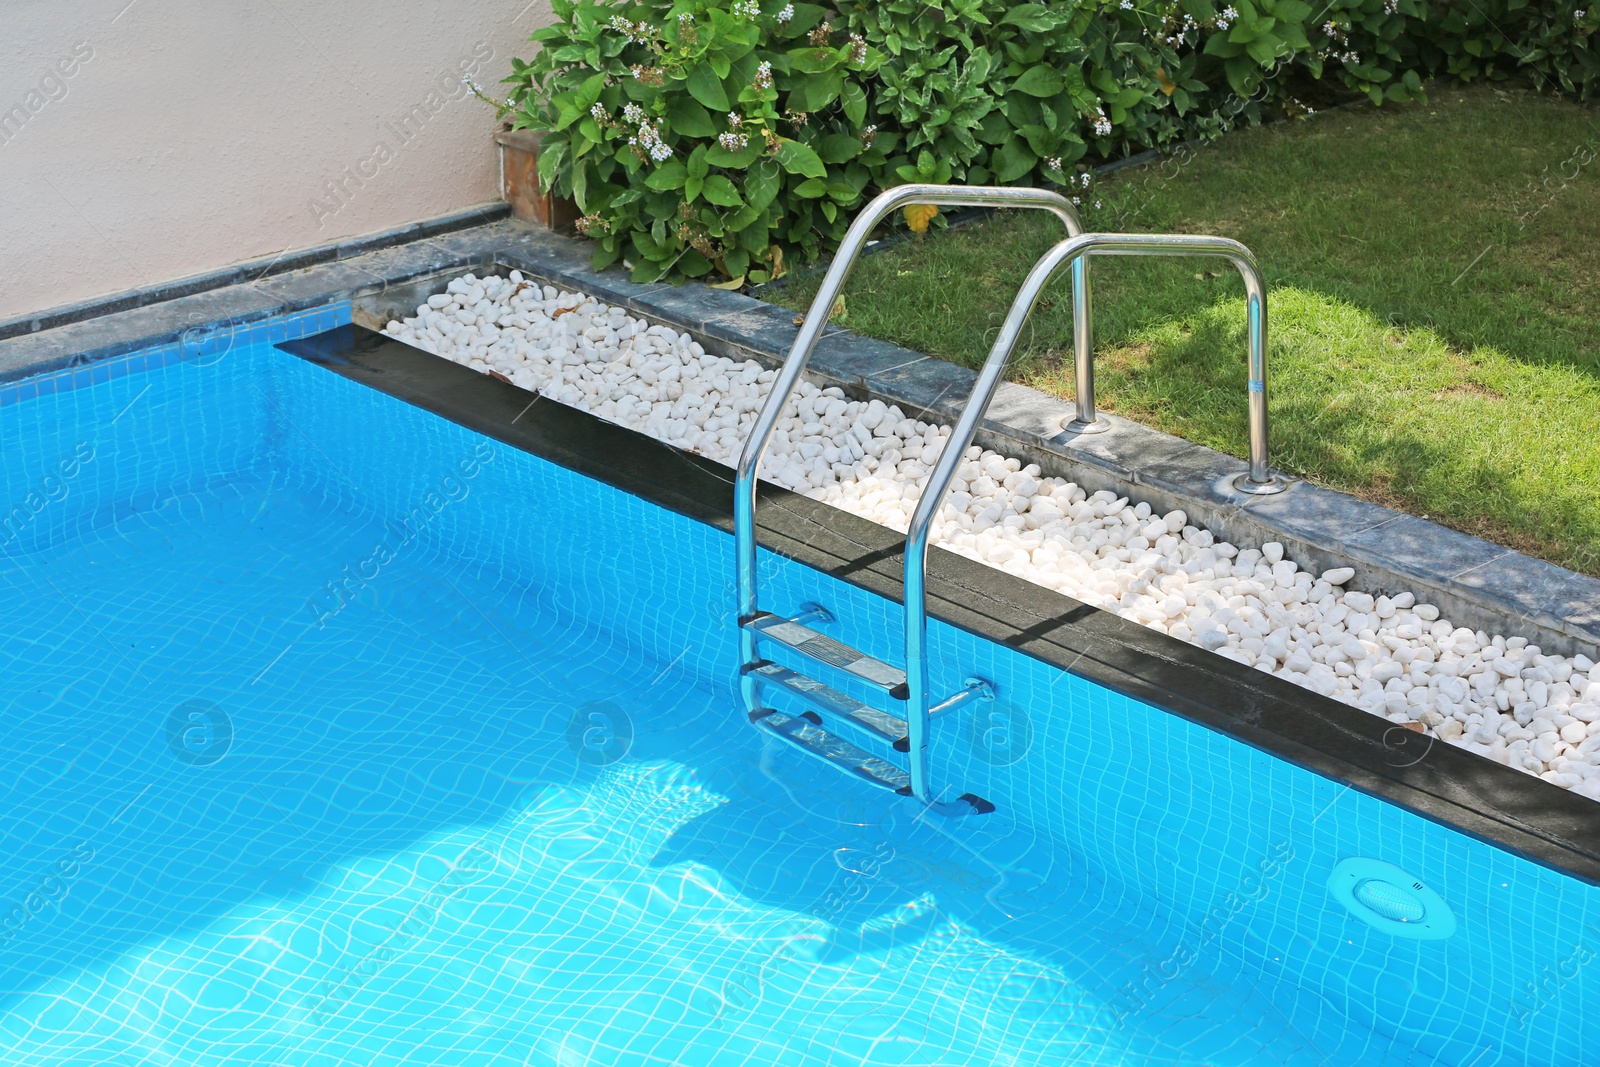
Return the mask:
[[[5,1064],[1600,1062],[1600,891],[963,632],[994,816],[774,750],[725,534],[267,344],[341,318],[0,395]]]

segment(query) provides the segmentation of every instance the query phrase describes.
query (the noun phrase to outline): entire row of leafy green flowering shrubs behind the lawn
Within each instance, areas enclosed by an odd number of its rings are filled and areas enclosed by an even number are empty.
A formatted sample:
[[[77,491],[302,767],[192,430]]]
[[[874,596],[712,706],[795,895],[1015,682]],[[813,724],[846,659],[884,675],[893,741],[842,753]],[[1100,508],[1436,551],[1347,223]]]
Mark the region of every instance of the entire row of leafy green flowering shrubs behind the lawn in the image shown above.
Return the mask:
[[[626,259],[640,282],[765,282],[835,248],[878,189],[1072,186],[1085,158],[1304,112],[1298,82],[1382,102],[1434,74],[1530,70],[1590,94],[1600,62],[1600,11],[1574,0],[554,8],[507,78],[515,123],[544,133],[541,182],[576,200],[595,266]]]

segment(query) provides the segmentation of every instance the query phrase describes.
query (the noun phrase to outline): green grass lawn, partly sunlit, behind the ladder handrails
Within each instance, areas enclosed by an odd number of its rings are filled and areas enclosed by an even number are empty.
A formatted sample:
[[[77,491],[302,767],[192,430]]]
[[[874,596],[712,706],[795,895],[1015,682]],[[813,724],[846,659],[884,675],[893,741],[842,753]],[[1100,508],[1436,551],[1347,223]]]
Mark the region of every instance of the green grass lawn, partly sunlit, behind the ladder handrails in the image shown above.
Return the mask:
[[[1085,224],[1256,253],[1275,467],[1600,574],[1597,154],[1600,109],[1446,88],[1123,170],[1085,194]],[[930,232],[858,264],[840,322],[976,366],[1058,237],[1037,213]],[[1243,456],[1232,269],[1101,258],[1091,275],[1101,408]],[[819,277],[768,299],[803,309]],[[1062,277],[1016,381],[1070,398],[1070,314]]]

